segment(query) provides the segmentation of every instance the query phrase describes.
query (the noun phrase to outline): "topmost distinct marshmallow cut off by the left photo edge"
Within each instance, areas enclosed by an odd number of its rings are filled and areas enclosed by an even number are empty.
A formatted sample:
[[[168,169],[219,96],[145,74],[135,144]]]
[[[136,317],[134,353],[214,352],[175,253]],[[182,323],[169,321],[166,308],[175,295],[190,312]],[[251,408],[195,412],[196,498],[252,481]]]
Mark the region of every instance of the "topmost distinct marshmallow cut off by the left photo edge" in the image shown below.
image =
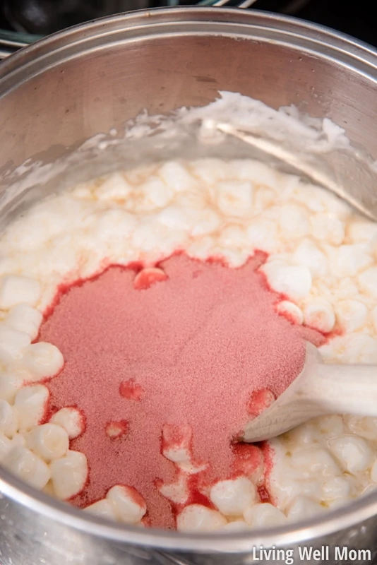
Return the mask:
[[[16,304],[25,302],[35,306],[41,295],[40,283],[20,275],[7,275],[0,282],[0,308],[8,310]]]

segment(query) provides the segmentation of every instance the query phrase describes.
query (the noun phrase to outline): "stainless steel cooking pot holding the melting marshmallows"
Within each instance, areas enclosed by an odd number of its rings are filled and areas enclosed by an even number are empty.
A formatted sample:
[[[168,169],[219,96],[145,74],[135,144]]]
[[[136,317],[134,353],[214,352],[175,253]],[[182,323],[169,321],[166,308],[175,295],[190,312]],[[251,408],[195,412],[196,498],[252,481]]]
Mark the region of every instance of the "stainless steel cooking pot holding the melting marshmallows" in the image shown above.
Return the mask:
[[[330,117],[377,159],[376,86],[371,47],[299,20],[216,8],[97,20],[1,64],[2,194],[9,169],[28,158],[52,161],[144,108],[164,113],[205,105],[218,90],[239,91],[275,108],[294,103],[315,117]],[[104,523],[5,471],[0,492],[1,565],[249,564],[260,545],[295,552],[299,545],[336,545],[377,555],[377,494],[298,525],[199,536]],[[295,555],[295,563],[305,563]]]

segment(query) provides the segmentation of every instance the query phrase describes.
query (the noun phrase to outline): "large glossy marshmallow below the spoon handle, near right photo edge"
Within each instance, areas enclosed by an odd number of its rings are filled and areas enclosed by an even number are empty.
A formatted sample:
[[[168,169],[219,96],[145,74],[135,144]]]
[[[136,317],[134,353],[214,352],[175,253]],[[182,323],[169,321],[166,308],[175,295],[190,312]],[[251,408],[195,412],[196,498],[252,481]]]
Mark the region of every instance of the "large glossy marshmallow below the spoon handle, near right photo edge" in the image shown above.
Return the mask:
[[[352,474],[366,471],[371,465],[371,448],[361,437],[341,436],[330,439],[328,445],[342,467]]]

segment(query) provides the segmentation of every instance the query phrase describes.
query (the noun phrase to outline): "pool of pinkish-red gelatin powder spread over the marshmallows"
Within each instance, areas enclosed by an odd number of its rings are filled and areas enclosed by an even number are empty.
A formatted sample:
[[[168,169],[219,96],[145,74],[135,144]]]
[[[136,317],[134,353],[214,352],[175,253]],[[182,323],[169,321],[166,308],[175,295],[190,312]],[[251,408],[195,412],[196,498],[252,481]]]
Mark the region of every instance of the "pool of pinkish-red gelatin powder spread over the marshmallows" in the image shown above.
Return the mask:
[[[147,290],[133,287],[135,269],[114,266],[56,299],[40,338],[65,359],[47,385],[52,405],[77,405],[86,418],[71,442],[90,468],[76,505],[128,484],[143,494],[153,526],[174,528],[172,505],[155,486],[176,476],[161,453],[164,424],[191,425],[193,458],[209,463],[201,480],[232,475],[232,435],[248,420],[251,393],[280,395],[304,364],[302,338],[322,338],[275,313],[277,295],[256,272],[261,262],[232,269],[173,256],[159,265],[167,280]],[[138,402],[119,394],[129,381],[143,389]],[[106,425],[120,420],[128,433],[112,441]],[[248,457],[245,465],[255,465]]]

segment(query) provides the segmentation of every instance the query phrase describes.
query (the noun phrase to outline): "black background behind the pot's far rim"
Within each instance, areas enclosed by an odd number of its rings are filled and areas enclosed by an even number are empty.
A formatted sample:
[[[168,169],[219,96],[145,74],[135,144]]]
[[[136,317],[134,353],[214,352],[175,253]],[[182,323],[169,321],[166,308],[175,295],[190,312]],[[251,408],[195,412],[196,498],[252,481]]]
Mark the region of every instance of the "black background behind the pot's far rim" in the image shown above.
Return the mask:
[[[150,7],[167,4],[167,0],[145,1]],[[180,4],[195,1],[181,0]],[[373,4],[373,0],[257,0],[253,8],[321,23],[377,47]],[[0,28],[46,35],[81,21],[126,11],[127,5],[127,0],[0,0]]]

